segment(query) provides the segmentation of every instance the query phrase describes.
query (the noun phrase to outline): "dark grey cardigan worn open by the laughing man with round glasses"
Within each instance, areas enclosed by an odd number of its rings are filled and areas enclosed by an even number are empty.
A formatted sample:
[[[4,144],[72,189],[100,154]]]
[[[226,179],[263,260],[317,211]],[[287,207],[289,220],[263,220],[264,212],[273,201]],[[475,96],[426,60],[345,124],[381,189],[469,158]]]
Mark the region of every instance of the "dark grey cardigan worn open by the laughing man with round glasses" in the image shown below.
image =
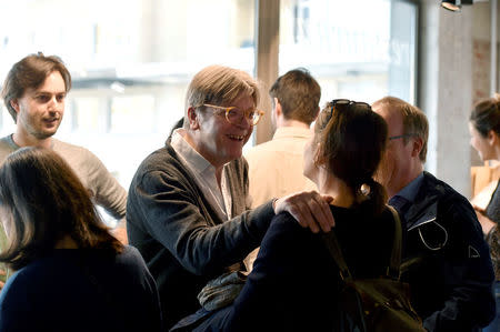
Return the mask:
[[[248,165],[227,165],[232,215],[223,222],[206,200],[173,148],[150,154],[139,167],[127,202],[127,232],[154,276],[166,325],[199,309],[201,288],[241,261],[274,215],[271,202],[246,211]]]

